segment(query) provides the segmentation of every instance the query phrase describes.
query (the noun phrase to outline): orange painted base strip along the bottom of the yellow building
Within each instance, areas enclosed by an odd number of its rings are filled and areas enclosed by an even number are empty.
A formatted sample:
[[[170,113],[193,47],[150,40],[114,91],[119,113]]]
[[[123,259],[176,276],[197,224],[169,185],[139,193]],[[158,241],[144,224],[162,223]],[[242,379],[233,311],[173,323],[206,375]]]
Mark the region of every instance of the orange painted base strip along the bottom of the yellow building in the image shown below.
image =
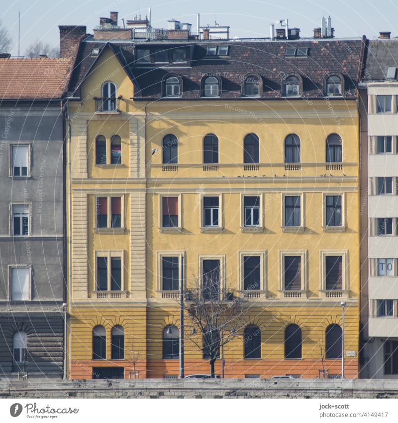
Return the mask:
[[[208,360],[185,359],[185,376],[209,374]],[[323,369],[330,377],[341,375],[341,359],[324,360]],[[271,378],[272,376],[292,375],[298,378],[317,378],[322,370],[322,362],[317,359],[226,359],[225,378]],[[346,358],[345,377],[357,379],[359,365],[357,358]],[[221,375],[221,360],[215,363],[215,373]],[[179,360],[72,360],[71,379],[96,378],[167,378],[178,377]]]

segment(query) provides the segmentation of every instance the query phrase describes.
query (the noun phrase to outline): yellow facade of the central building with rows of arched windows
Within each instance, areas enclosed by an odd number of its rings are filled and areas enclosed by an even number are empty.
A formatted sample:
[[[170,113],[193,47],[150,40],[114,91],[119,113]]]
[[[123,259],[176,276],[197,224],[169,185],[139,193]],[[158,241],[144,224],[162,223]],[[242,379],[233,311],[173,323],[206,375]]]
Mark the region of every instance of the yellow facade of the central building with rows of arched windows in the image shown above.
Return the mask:
[[[69,100],[68,375],[178,375],[166,344],[178,336],[184,258],[188,288],[215,266],[248,307],[225,346],[225,377],[338,377],[342,350],[345,376],[358,377],[355,94],[159,101],[121,50],[102,45]],[[185,374],[208,373],[192,337],[201,342],[186,332]]]

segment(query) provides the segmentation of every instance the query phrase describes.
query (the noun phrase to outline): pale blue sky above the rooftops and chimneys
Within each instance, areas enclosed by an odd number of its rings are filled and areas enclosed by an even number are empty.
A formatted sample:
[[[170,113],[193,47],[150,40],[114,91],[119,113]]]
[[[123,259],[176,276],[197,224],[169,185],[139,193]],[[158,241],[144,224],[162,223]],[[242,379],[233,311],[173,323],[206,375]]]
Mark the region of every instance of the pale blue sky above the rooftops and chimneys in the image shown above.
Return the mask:
[[[5,0],[3,0],[5,3]],[[302,36],[312,36],[312,29],[320,25],[323,14],[331,15],[337,37],[362,34],[374,38],[379,31],[391,31],[397,36],[397,0],[10,0],[3,4],[0,19],[13,39],[11,53],[17,54],[18,9],[21,11],[21,54],[36,38],[58,45],[58,25],[87,25],[92,33],[100,16],[109,11],[119,12],[119,19],[132,19],[152,8],[152,26],[167,27],[167,20],[175,18],[193,24],[200,13],[200,24],[231,27],[231,36],[269,36],[270,23],[288,18],[290,26],[301,29]]]

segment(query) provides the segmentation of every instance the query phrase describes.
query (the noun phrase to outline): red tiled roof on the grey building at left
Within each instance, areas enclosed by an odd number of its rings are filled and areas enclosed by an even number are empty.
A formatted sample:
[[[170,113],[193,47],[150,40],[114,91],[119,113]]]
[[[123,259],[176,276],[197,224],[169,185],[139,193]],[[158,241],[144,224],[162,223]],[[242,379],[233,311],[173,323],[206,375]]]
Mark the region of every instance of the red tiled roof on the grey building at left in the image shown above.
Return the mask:
[[[0,59],[0,100],[62,97],[73,60]]]

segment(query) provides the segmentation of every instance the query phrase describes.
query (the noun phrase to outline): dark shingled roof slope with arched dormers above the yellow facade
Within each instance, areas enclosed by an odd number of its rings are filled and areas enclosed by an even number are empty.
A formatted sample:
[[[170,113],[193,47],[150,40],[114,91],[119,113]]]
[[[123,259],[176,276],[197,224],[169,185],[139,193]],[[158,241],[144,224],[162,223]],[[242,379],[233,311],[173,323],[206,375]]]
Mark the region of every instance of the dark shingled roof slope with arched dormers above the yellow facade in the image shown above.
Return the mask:
[[[124,64],[136,88],[135,98],[158,99],[162,96],[162,80],[173,73],[182,78],[183,99],[200,97],[200,81],[206,74],[221,80],[221,98],[241,98],[241,83],[248,73],[258,73],[263,80],[263,98],[281,98],[281,81],[289,73],[298,73],[303,81],[303,96],[324,97],[323,79],[330,72],[344,76],[345,97],[355,97],[355,89],[362,71],[363,39],[328,39],[290,41],[220,41],[229,45],[228,57],[206,56],[206,42],[188,42],[193,48],[191,66],[135,67],[133,43],[110,44]],[[211,42],[214,45],[214,41]],[[146,42],[146,46],[152,43]],[[106,44],[84,41],[77,58],[71,92],[76,90],[89,72],[96,57],[94,48]],[[175,45],[175,44],[174,44]],[[163,42],[164,48],[173,43]],[[179,43],[181,45],[181,43]],[[308,48],[308,57],[285,57],[288,47]]]

